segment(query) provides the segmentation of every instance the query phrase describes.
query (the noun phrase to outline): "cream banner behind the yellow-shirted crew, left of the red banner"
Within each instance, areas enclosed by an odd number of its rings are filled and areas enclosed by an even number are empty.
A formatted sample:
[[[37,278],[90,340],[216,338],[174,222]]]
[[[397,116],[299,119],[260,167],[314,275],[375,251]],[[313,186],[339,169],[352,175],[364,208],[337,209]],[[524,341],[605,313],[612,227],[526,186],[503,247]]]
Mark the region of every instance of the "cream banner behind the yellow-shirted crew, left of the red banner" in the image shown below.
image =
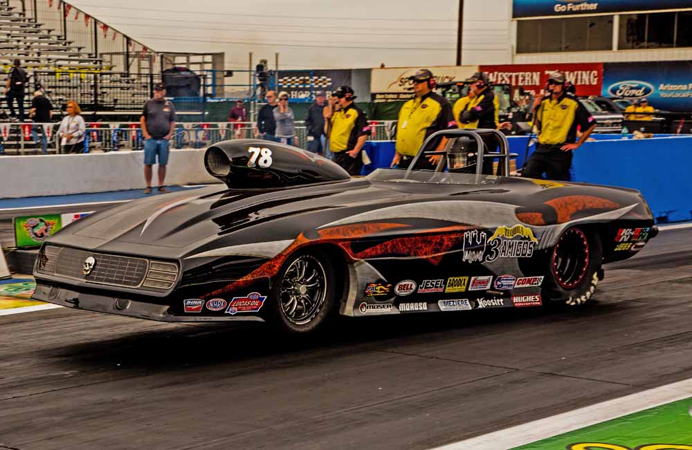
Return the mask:
[[[413,82],[408,79],[421,67],[374,68],[370,75],[370,95],[374,102],[408,100]],[[426,67],[439,83],[464,81],[478,71],[478,66]]]

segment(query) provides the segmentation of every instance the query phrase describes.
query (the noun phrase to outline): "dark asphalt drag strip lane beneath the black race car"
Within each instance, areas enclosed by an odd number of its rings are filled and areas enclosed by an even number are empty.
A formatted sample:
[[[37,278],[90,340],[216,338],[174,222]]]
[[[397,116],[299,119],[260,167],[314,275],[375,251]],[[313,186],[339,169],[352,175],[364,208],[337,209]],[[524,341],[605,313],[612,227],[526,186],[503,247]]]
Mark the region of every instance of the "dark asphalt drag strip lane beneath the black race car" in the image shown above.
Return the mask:
[[[262,325],[0,317],[0,449],[428,449],[689,378],[692,229],[584,309]],[[499,449],[498,449],[499,450]]]

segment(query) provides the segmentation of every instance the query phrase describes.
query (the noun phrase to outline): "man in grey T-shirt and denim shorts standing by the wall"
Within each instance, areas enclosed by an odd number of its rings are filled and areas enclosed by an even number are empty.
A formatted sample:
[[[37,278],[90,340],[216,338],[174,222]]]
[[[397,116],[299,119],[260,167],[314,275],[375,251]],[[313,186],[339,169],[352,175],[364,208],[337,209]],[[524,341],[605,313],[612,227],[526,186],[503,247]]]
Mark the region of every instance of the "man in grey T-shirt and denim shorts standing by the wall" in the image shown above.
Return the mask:
[[[152,193],[152,166],[158,158],[158,191],[170,192],[163,182],[166,178],[169,143],[175,131],[175,107],[166,100],[163,83],[154,85],[154,98],[144,104],[140,126],[144,135],[144,180],[147,183],[145,194]]]

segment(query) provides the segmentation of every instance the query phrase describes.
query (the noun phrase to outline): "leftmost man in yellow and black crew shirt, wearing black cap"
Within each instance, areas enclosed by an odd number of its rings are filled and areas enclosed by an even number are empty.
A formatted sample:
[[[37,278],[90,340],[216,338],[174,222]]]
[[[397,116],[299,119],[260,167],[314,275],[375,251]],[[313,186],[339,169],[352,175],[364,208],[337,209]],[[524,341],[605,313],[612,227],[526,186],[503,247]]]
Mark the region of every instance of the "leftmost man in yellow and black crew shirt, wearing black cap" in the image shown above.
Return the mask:
[[[351,86],[339,86],[334,95],[338,98],[339,109],[329,119],[331,160],[350,175],[360,175],[363,167],[360,153],[370,135],[370,125],[367,124],[365,113],[354,104],[356,95]]]

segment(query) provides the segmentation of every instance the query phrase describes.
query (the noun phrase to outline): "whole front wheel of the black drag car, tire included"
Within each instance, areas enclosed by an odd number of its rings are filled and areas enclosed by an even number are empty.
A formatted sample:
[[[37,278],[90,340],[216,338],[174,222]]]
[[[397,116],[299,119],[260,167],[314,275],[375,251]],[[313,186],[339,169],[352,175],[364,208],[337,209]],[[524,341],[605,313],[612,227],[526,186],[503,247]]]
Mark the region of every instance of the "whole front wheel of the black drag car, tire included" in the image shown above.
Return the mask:
[[[310,250],[291,256],[272,288],[268,320],[284,332],[314,332],[334,309],[336,280],[324,252]]]

